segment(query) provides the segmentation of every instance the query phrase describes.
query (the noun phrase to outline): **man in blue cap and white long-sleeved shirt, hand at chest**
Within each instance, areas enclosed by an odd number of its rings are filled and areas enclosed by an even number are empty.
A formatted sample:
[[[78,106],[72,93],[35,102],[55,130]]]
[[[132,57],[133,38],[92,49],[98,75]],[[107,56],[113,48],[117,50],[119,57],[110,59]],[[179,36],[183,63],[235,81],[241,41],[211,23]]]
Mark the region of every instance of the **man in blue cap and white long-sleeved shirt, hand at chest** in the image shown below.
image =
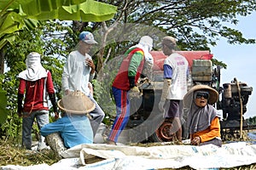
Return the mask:
[[[105,116],[102,108],[96,103],[96,100],[90,93],[89,88],[90,81],[95,76],[95,65],[88,53],[90,52],[90,48],[96,43],[90,31],[82,31],[79,34],[77,49],[67,56],[67,62],[64,66],[61,80],[62,88],[66,95],[79,90],[95,103],[95,110],[90,111],[90,116],[92,117],[90,124],[94,136]]]

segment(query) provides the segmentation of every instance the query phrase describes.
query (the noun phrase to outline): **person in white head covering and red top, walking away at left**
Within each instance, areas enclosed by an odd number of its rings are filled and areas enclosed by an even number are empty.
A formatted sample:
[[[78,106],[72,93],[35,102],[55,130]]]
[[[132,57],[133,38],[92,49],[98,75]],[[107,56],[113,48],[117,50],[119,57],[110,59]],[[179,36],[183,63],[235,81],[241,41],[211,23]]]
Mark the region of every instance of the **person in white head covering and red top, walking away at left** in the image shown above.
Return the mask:
[[[55,102],[55,89],[51,73],[41,65],[41,55],[32,52],[26,57],[26,70],[20,72],[20,85],[18,89],[18,114],[22,116],[22,145],[27,150],[32,150],[32,125],[37,119],[38,128],[49,123],[48,96],[53,105],[55,116],[58,116]],[[22,101],[26,97],[24,105]],[[46,147],[44,137],[40,136],[38,150]]]

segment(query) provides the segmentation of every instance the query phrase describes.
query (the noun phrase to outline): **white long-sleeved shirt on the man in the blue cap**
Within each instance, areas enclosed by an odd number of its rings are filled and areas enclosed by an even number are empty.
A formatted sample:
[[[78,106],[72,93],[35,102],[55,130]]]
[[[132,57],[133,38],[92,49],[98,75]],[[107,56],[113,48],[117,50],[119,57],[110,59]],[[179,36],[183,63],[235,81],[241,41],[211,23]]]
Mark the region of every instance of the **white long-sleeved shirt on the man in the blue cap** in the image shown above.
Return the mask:
[[[90,94],[88,83],[94,75],[90,75],[91,68],[85,64],[87,58],[91,59],[89,54],[83,55],[77,50],[68,55],[61,80],[64,92],[69,89],[70,91],[79,90],[87,96]]]

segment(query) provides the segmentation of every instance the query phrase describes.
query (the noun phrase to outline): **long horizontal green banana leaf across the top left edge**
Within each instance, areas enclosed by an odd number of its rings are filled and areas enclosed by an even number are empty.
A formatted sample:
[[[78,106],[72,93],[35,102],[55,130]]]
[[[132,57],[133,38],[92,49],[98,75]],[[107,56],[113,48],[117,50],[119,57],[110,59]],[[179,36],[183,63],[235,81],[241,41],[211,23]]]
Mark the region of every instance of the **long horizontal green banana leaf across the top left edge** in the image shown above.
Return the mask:
[[[81,20],[101,22],[110,20],[117,8],[94,0],[0,0],[0,10],[19,6],[28,18],[36,20]]]

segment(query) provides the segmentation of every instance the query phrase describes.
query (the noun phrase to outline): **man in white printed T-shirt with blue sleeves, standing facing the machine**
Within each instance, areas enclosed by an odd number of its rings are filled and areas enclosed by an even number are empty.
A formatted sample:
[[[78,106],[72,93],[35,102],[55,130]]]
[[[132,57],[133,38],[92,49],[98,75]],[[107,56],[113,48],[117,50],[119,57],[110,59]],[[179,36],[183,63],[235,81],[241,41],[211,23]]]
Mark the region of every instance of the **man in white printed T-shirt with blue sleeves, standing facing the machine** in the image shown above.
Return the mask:
[[[159,103],[164,117],[172,122],[170,132],[175,133],[177,140],[182,141],[182,111],[180,105],[187,93],[189,63],[185,57],[175,52],[176,40],[174,37],[163,37],[162,50],[167,58],[164,62],[164,86]],[[168,102],[167,102],[168,101]]]

